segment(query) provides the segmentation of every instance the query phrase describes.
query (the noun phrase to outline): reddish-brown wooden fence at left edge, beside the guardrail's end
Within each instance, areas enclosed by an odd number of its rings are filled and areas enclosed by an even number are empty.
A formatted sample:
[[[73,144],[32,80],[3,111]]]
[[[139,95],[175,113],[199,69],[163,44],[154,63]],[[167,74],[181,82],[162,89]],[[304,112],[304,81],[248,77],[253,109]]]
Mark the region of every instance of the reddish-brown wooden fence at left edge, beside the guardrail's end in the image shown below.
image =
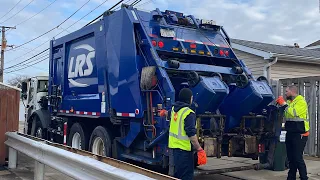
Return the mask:
[[[5,133],[18,131],[20,90],[0,83],[0,166],[5,164]]]

